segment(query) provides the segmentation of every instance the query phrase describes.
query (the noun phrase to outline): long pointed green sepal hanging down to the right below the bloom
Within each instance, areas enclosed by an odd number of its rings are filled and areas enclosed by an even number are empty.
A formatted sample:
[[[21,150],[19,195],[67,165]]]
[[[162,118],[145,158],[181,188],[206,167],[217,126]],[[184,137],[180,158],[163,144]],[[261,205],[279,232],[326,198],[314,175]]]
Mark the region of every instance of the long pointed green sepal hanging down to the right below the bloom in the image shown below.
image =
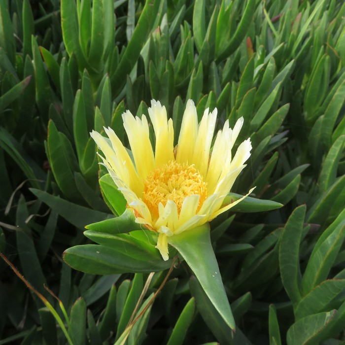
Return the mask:
[[[209,224],[168,237],[194,272],[214,308],[226,324],[235,330],[235,320],[219,273],[210,239]]]

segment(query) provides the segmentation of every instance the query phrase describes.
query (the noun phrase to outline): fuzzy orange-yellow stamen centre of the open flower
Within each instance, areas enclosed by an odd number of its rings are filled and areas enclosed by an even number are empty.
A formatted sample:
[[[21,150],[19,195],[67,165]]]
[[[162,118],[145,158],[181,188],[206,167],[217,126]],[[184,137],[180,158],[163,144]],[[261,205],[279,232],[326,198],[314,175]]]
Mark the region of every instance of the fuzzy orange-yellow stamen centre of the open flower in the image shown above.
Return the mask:
[[[156,168],[144,182],[143,202],[147,205],[153,218],[158,218],[158,205],[173,200],[180,214],[183,200],[189,195],[200,195],[198,209],[207,198],[207,183],[194,165],[182,166],[170,161]]]

